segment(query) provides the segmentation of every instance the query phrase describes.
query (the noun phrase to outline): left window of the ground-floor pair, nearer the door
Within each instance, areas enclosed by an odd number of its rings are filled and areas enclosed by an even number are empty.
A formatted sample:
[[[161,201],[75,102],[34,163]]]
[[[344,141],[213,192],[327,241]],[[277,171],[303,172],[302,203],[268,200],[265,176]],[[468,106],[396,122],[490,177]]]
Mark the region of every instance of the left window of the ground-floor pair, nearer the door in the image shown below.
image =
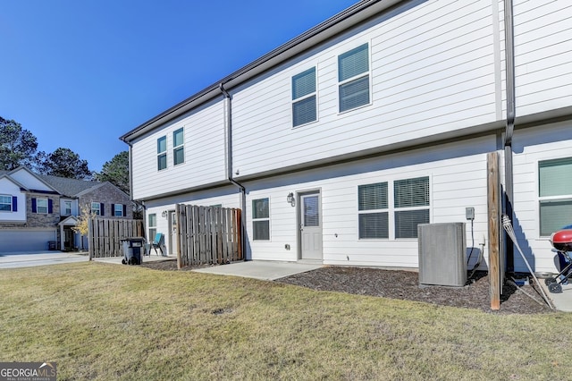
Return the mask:
[[[357,187],[359,239],[389,238],[387,182]]]

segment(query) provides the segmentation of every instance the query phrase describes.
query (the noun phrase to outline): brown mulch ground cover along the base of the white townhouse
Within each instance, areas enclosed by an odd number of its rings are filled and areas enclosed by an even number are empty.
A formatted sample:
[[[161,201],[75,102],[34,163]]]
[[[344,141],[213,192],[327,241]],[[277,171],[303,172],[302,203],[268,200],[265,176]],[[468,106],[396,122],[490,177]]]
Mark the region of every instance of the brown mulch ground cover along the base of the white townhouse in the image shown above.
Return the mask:
[[[166,260],[147,262],[142,267],[167,271],[177,270],[177,262]],[[531,283],[534,279],[530,279]],[[320,267],[313,271],[278,279],[278,283],[295,284],[317,291],[348,292],[357,295],[379,296],[406,301],[423,301],[442,306],[481,309],[500,314],[550,313],[537,286],[526,284],[517,289],[505,284],[501,295],[501,309],[492,310],[489,297],[489,277],[476,272],[465,287],[419,286],[419,275],[414,271],[383,270],[367,267]],[[542,282],[542,280],[541,280]],[[530,296],[534,296],[534,301]]]

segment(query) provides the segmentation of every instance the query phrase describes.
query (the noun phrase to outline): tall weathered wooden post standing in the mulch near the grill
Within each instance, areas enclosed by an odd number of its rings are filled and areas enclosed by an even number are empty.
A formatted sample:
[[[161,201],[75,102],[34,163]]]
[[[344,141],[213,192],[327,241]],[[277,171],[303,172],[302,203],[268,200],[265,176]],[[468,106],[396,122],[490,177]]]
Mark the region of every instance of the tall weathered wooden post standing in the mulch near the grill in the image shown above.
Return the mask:
[[[496,152],[487,154],[487,209],[489,219],[489,281],[491,309],[501,309],[501,254],[499,248],[500,177],[499,156]]]

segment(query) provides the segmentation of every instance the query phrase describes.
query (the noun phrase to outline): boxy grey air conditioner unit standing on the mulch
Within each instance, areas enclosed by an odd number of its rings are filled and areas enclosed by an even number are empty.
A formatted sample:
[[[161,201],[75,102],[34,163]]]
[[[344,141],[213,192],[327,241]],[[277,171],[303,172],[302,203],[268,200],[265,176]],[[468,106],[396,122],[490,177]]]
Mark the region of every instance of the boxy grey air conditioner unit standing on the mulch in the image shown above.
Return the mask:
[[[467,284],[465,223],[418,224],[419,284]]]

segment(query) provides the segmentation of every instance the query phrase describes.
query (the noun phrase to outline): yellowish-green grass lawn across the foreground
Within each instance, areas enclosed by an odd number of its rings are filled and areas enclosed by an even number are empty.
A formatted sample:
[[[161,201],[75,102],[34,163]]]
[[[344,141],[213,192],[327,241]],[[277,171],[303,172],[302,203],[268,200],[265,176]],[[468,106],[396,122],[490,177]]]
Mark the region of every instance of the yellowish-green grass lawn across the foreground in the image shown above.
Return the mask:
[[[497,315],[237,277],[0,270],[0,361],[63,379],[551,379],[572,314]]]

